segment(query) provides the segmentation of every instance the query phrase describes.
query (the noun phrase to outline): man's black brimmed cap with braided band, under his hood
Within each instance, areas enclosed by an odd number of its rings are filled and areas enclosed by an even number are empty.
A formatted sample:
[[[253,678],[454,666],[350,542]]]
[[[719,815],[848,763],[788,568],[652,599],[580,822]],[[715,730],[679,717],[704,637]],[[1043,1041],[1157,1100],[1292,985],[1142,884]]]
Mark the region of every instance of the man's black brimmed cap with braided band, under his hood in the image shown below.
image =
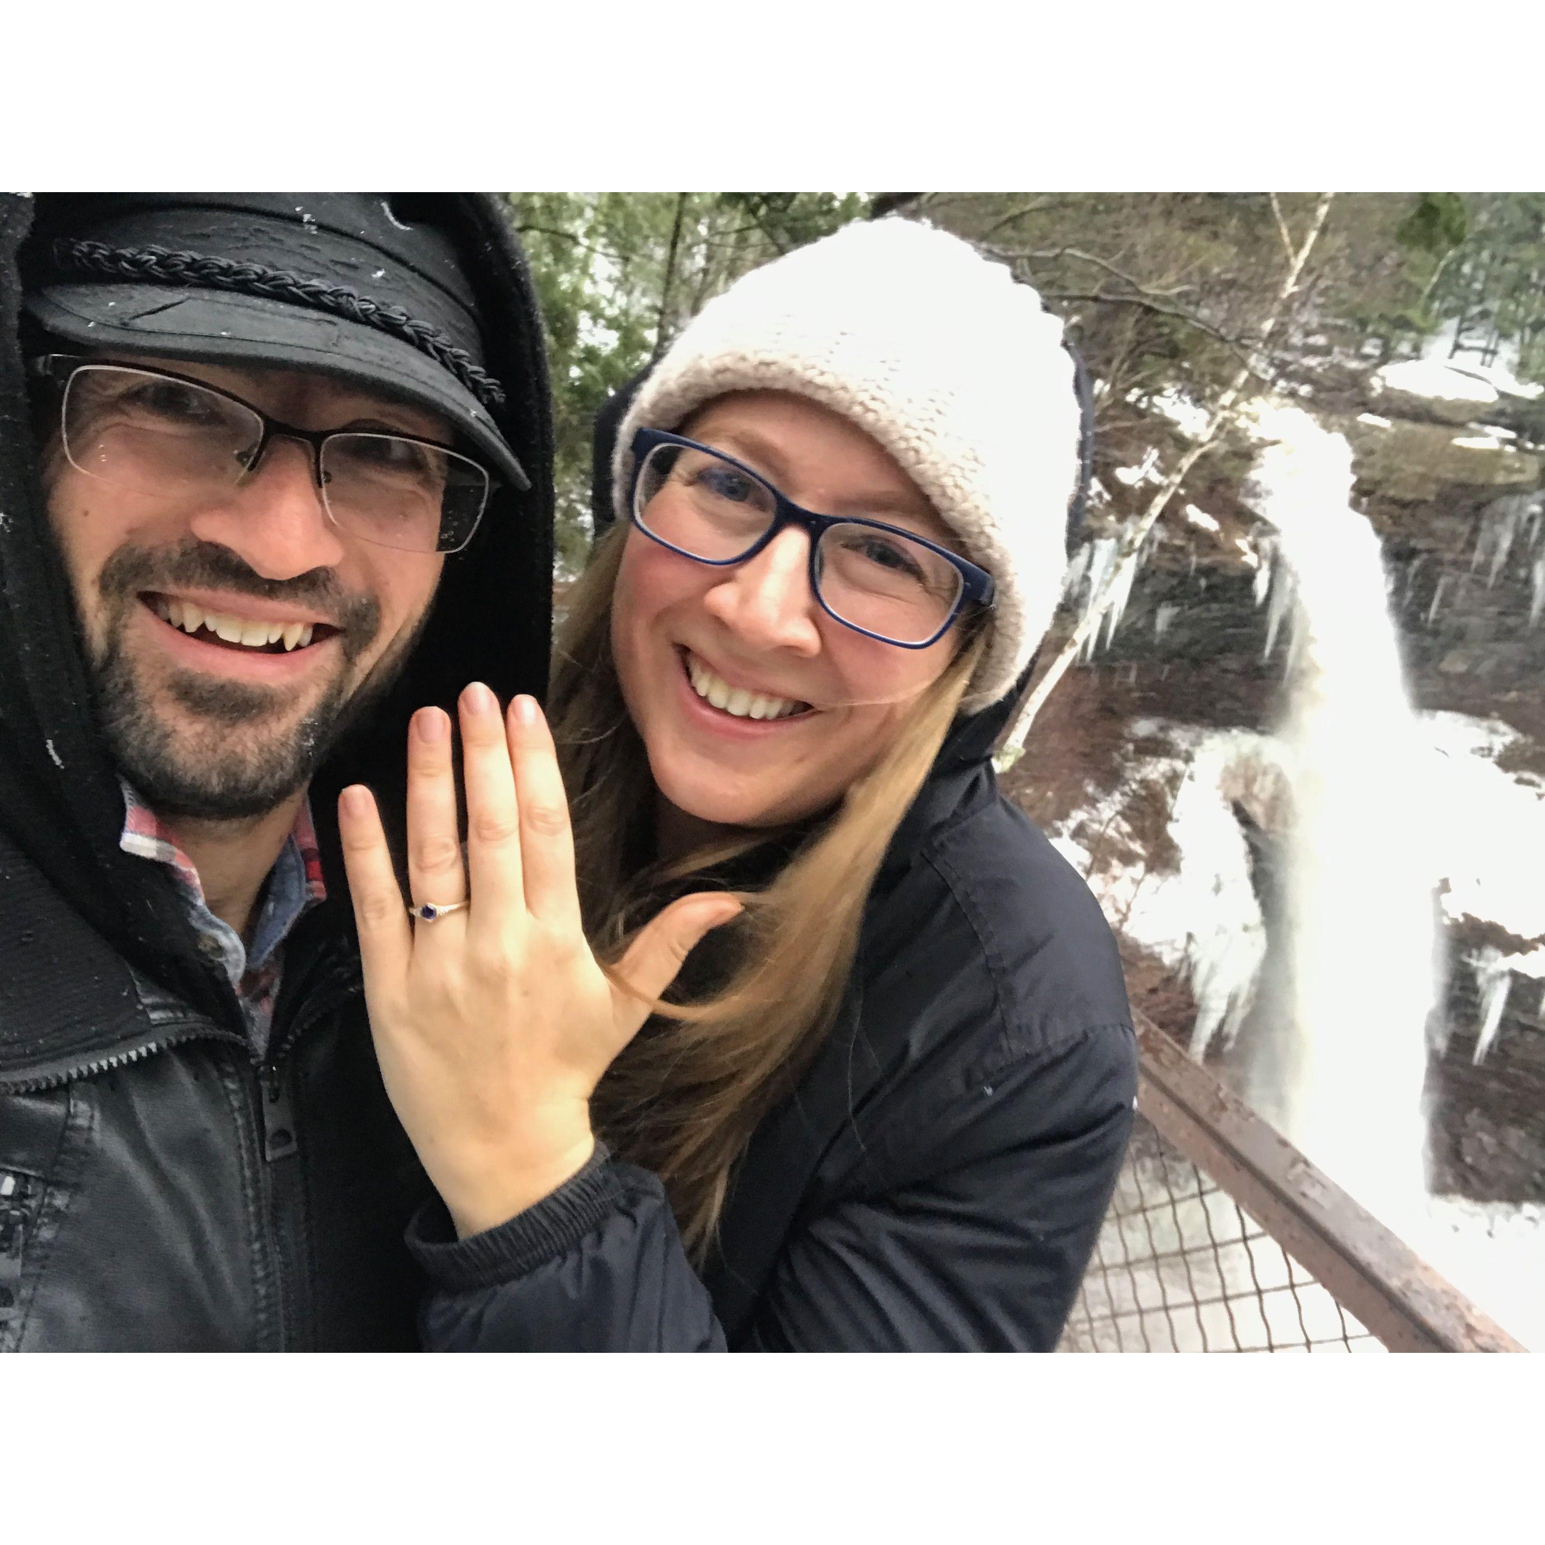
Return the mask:
[[[85,193],[34,232],[23,306],[49,335],[158,358],[317,371],[428,408],[499,476],[464,235],[442,195]]]

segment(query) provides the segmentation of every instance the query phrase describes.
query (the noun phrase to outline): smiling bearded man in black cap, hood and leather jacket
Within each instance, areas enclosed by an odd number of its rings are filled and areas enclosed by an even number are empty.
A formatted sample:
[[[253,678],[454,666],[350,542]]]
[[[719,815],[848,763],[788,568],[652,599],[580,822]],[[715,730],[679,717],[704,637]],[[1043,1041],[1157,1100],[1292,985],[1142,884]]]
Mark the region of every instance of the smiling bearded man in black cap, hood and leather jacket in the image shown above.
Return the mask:
[[[414,1346],[337,791],[550,564],[491,198],[0,198],[0,1349]]]

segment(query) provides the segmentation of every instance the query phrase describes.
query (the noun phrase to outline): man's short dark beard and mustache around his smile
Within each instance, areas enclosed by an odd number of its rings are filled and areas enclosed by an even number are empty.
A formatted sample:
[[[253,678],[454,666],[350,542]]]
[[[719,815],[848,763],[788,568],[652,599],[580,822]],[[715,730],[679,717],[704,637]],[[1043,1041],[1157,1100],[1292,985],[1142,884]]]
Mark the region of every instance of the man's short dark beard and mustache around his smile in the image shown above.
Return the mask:
[[[388,692],[423,624],[388,650],[351,688],[352,666],[380,632],[374,596],[349,596],[332,570],[295,579],[264,579],[230,548],[188,541],[171,548],[121,547],[97,581],[104,603],[102,643],[88,643],[87,661],[97,723],[119,772],[168,816],[241,820],[273,810],[304,788],[338,740]],[[335,678],[298,720],[263,731],[287,701],[283,689],[173,671],[159,692],[181,709],[184,725],[162,718],[154,692],[136,674],[125,649],[131,610],[147,590],[224,590],[321,610],[338,629]]]

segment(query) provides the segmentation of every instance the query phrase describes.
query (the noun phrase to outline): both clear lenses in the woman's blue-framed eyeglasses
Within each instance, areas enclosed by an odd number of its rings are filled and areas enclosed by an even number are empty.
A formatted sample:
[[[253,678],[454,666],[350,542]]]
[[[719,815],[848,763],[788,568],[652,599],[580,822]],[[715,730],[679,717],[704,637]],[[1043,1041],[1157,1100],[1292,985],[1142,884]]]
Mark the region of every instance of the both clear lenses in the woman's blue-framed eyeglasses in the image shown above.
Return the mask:
[[[635,516],[669,547],[734,562],[766,535],[777,501],[766,484],[712,451],[657,445],[638,474]],[[836,616],[898,644],[933,638],[963,586],[959,570],[930,547],[857,521],[822,531],[813,570],[820,601]]]

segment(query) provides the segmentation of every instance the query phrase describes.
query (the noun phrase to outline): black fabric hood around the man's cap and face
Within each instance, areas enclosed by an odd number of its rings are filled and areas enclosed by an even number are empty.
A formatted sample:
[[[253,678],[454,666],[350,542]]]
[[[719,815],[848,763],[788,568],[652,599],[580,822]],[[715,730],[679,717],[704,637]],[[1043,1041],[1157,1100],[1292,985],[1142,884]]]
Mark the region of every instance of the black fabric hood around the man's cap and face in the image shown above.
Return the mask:
[[[134,969],[205,1012],[230,987],[198,953],[162,865],[119,850],[124,802],[102,745],[63,569],[46,535],[19,334],[20,269],[34,226],[70,195],[0,195],[0,825],[54,888]],[[297,202],[303,195],[294,196]],[[445,561],[434,612],[402,680],[312,780],[328,902],[307,936],[352,925],[337,839],[337,793],[368,782],[402,810],[406,722],[453,706],[471,680],[502,698],[541,695],[552,635],[553,436],[541,318],[519,243],[494,195],[420,195],[454,232],[504,386],[493,417],[531,487],[496,490],[471,544]],[[25,919],[0,919],[0,929]]]

